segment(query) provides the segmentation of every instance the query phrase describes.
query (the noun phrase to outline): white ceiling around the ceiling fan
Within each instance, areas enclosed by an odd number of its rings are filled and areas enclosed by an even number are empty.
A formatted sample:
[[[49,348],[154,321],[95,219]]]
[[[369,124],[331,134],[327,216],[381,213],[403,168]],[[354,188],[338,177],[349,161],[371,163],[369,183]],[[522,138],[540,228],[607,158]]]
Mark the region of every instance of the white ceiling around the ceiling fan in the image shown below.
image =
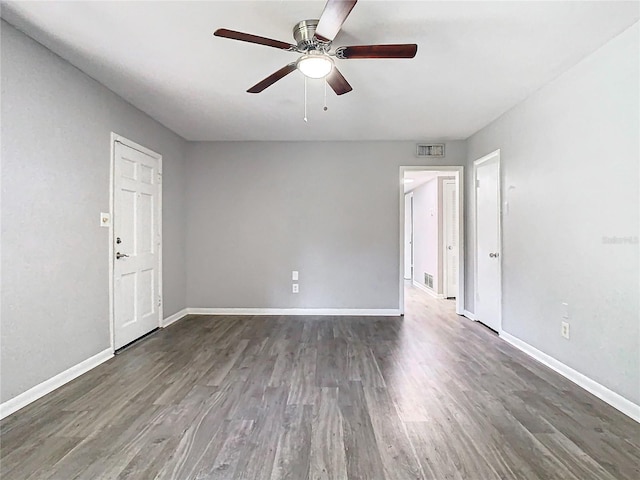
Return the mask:
[[[213,36],[293,42],[324,1],[3,2],[2,17],[188,140],[467,138],[638,20],[638,2],[360,0],[334,46],[417,43],[413,60],[338,60],[337,97],[296,54]]]

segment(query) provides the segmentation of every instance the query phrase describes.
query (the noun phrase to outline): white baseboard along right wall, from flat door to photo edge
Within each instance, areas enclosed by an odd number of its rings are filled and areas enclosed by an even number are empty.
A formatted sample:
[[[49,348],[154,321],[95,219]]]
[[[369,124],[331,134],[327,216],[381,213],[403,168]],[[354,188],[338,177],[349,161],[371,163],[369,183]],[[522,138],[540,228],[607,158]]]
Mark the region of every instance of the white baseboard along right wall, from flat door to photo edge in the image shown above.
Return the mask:
[[[631,400],[627,400],[622,395],[609,390],[604,385],[599,384],[595,380],[590,379],[550,355],[547,355],[528,343],[523,342],[519,338],[510,335],[504,330],[500,332],[500,338],[640,423],[640,405],[636,405]]]

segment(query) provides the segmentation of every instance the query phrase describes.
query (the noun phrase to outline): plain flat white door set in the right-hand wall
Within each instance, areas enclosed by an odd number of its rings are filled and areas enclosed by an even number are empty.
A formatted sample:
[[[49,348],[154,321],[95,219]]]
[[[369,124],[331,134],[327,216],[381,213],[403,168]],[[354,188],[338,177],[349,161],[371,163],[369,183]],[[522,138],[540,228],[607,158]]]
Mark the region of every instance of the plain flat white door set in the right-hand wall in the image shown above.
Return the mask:
[[[501,330],[500,157],[476,163],[476,320]]]

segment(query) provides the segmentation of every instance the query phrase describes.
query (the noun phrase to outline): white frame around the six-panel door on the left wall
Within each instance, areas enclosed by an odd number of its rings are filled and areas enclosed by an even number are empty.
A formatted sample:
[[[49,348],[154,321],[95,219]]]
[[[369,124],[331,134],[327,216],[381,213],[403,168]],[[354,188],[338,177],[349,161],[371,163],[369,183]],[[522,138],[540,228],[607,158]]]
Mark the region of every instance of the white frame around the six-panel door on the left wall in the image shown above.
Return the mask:
[[[129,148],[138,150],[139,152],[149,155],[158,160],[158,172],[162,178],[162,155],[153,150],[149,150],[142,145],[129,140],[117,133],[111,132],[111,163],[109,167],[109,212],[111,222],[109,223],[109,338],[111,340],[111,350],[115,352],[115,311],[114,311],[114,198],[115,198],[115,164],[116,164],[116,142],[121,143]],[[162,296],[162,181],[158,184],[158,232],[160,234],[160,243],[158,245],[158,294],[160,295],[160,305],[158,307],[158,327],[162,327],[164,299]]]

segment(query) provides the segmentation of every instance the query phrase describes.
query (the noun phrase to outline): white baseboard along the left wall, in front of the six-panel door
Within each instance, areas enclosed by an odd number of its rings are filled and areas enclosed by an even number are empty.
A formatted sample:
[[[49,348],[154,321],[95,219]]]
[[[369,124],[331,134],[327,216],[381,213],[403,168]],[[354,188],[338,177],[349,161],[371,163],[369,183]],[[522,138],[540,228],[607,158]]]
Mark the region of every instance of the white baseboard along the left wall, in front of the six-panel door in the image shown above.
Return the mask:
[[[17,397],[7,400],[3,404],[0,404],[0,418],[7,417],[12,413],[17,412],[21,408],[29,405],[31,402],[35,402],[40,397],[44,397],[47,393],[51,393],[56,388],[61,387],[65,383],[69,383],[74,378],[77,378],[92,368],[97,367],[101,363],[106,362],[111,357],[113,357],[113,350],[111,348],[107,348],[93,357],[87,358],[77,365],[68,368],[49,380],[45,380],[35,387],[30,388]]]

